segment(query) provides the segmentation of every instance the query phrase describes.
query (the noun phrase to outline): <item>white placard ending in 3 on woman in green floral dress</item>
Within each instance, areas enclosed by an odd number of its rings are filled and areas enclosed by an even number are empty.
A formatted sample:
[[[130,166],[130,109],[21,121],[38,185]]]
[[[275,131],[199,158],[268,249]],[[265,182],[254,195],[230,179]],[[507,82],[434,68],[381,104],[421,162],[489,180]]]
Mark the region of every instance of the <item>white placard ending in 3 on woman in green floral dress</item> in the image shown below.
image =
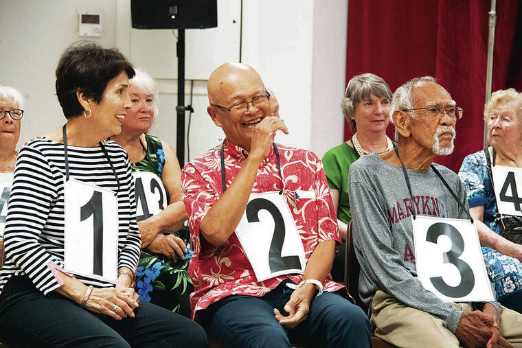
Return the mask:
[[[168,194],[161,178],[151,172],[134,172],[136,220],[153,216],[168,205]]]

